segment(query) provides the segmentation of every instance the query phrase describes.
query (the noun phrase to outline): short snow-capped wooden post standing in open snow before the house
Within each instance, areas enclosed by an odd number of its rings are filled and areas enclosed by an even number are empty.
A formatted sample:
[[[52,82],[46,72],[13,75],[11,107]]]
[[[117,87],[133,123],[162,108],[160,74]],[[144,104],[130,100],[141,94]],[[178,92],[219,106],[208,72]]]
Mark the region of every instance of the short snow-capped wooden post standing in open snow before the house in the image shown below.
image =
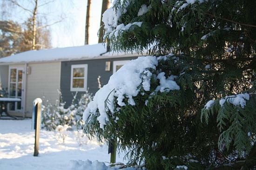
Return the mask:
[[[40,125],[41,125],[41,104],[42,100],[37,98],[33,101],[33,120],[35,129],[35,140],[34,140],[34,157],[37,157],[39,154],[39,133],[40,133]]]

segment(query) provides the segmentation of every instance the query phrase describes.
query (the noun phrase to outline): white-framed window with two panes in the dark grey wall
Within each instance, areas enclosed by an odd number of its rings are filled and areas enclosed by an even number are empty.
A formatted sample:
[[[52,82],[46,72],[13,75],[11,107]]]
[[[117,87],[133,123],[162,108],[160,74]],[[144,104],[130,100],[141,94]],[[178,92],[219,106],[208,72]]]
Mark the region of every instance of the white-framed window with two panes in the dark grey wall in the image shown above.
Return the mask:
[[[86,91],[87,89],[87,64],[71,66],[70,91]]]

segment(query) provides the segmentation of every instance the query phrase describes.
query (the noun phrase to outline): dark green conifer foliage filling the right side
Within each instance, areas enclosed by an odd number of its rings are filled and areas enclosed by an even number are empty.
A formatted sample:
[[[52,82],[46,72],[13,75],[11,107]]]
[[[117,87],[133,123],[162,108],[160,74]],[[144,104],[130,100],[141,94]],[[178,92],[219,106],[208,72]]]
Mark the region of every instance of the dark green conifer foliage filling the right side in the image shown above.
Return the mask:
[[[131,164],[144,162],[149,170],[177,165],[189,170],[256,169],[256,1],[195,0],[184,7],[187,2],[117,0],[114,8],[126,10],[118,25],[142,25],[117,37],[106,33],[112,50],[175,56],[159,60],[150,91],[141,89],[135,106],[126,97],[124,107],[114,100],[115,113],[108,112],[104,130],[98,114],[89,117],[84,132],[99,141],[116,140]],[[149,11],[138,16],[142,4]],[[176,75],[181,89],[155,92],[159,81],[154,76],[160,72]],[[245,92],[250,96],[245,107],[219,104],[225,96]],[[209,100],[214,104],[204,108]]]

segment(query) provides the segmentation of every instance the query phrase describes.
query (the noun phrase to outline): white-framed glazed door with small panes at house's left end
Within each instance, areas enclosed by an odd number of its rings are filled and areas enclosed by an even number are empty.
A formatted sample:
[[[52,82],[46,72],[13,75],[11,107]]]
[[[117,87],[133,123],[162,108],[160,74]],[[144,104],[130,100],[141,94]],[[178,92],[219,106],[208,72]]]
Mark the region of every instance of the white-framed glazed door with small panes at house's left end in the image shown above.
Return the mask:
[[[24,68],[10,67],[9,68],[9,87],[8,93],[10,98],[20,98],[21,101],[9,103],[8,111],[23,111],[24,105]]]

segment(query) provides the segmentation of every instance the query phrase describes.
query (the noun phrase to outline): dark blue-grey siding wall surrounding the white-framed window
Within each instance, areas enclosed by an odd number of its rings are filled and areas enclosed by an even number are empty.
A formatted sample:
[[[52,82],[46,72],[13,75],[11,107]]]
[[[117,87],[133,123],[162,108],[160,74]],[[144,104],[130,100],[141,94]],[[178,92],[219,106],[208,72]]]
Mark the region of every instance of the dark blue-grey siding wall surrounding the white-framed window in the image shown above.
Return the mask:
[[[66,101],[66,107],[70,105],[75,92],[70,91],[71,65],[73,64],[88,64],[88,80],[87,88],[89,93],[95,94],[98,91],[98,76],[101,76],[101,86],[108,83],[109,77],[113,74],[113,61],[132,60],[137,57],[122,57],[94,60],[80,60],[61,62],[61,92],[63,101]],[[105,71],[105,63],[111,62],[110,71]],[[78,98],[84,92],[78,92]]]

